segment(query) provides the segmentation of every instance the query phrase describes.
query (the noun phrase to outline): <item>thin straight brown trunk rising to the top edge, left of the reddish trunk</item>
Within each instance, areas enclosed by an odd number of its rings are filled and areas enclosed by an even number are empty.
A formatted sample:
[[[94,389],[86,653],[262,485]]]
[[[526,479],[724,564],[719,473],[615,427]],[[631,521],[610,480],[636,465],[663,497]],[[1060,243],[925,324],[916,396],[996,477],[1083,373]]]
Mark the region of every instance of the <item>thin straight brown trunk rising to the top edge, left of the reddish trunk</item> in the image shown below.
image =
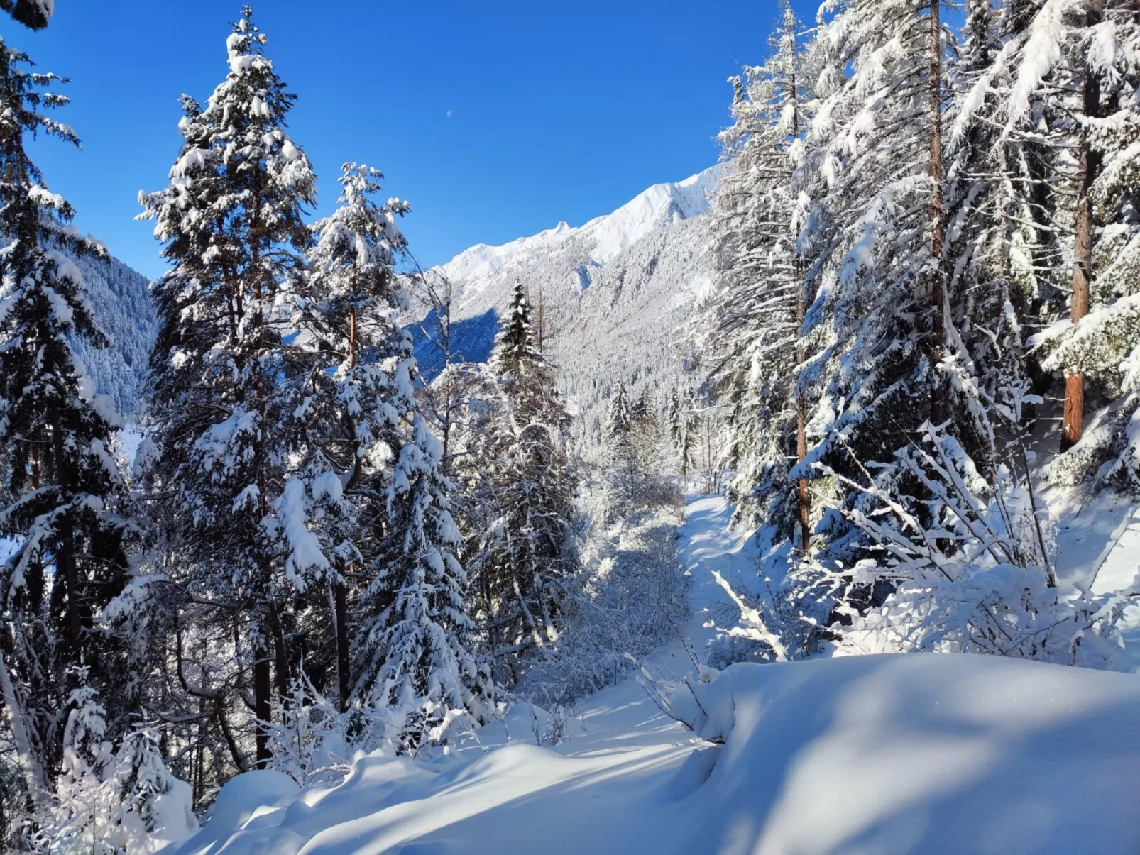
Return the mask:
[[[938,374],[946,345],[946,276],[942,267],[942,16],[939,0],[930,1],[930,254],[934,269],[930,283],[930,370],[934,385],[930,399],[930,422],[946,420],[946,384]]]

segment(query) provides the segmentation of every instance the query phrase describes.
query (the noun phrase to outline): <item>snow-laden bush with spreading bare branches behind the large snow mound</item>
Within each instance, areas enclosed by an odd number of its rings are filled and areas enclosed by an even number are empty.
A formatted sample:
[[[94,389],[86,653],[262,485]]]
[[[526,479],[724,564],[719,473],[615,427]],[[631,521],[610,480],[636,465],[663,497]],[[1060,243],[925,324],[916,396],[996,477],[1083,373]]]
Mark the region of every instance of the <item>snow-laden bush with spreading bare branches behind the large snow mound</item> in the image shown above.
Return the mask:
[[[844,513],[881,557],[815,570],[837,587],[886,581],[894,591],[865,612],[838,604],[849,620],[830,627],[838,652],[992,653],[1115,668],[1129,592],[1093,595],[1058,578],[1025,457],[1020,471],[1010,461],[984,474],[955,439],[929,424],[922,431],[922,445],[898,451],[893,467],[866,473],[866,483],[847,480],[872,502]],[[921,516],[907,510],[922,505]]]

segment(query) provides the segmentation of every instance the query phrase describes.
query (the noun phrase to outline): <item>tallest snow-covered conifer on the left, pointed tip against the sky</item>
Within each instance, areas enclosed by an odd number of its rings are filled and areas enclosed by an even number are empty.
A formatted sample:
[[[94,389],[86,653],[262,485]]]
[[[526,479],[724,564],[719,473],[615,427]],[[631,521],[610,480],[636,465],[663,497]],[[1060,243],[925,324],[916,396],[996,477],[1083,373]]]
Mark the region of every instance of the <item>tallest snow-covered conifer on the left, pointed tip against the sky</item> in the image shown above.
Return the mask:
[[[312,417],[306,384],[317,368],[293,333],[316,182],[285,131],[294,96],[251,15],[246,6],[234,25],[229,73],[206,107],[184,98],[170,186],[140,201],[173,266],[154,292],[149,412],[156,496],[180,551],[172,567],[192,598],[225,612],[238,641],[231,681],[264,722],[272,671],[287,694],[294,662],[282,612],[308,584],[278,548],[276,514]],[[256,757],[269,759],[263,726]]]

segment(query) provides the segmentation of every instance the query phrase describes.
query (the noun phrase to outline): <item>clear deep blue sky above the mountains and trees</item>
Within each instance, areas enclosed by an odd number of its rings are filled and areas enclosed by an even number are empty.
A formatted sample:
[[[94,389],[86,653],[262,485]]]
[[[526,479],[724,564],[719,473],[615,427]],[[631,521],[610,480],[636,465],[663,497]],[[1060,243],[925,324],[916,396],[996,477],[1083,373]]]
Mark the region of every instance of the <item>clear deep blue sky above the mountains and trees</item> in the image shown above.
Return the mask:
[[[267,54],[298,95],[290,130],[316,164],[324,213],[347,160],[412,202],[424,266],[475,243],[580,225],[652,184],[717,158],[725,82],[760,62],[775,0],[392,2],[261,0]],[[41,70],[72,78],[57,112],[83,150],[34,150],[76,225],[138,270],[163,269],[140,189],[165,184],[178,96],[204,100],[225,76],[236,0],[57,0],[51,26],[3,18]],[[334,11],[335,9],[335,11]],[[811,21],[814,5],[798,2]]]

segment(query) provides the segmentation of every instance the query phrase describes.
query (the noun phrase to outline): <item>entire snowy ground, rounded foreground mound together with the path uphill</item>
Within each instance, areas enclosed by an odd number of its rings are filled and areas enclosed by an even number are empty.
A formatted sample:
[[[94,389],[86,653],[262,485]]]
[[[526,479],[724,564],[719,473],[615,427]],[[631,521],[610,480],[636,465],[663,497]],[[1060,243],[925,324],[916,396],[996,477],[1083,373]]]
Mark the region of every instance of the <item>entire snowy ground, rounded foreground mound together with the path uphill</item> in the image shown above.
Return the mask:
[[[751,565],[723,499],[687,510],[694,614],[682,634],[699,650],[730,605],[712,572]],[[679,638],[645,665],[669,682],[692,670]],[[677,709],[709,741],[625,679],[583,702],[557,744],[543,739],[546,714],[521,706],[445,756],[360,758],[332,789],[247,773],[177,852],[1140,850],[1137,675],[854,657],[736,665],[697,695]]]

